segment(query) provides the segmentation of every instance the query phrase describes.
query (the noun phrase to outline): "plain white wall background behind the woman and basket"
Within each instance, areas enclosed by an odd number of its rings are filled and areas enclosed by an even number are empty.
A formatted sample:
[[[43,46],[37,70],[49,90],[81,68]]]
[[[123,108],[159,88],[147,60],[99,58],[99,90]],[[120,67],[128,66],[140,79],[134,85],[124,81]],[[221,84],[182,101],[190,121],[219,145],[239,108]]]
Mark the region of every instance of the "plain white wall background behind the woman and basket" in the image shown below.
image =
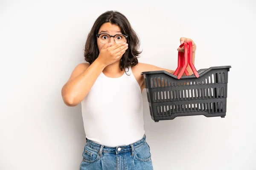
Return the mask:
[[[143,91],[155,170],[256,170],[254,0],[0,1],[0,170],[78,170],[85,144],[81,105],[61,88],[84,62],[93,22],[125,14],[140,62],[176,69],[180,37],[197,45],[195,67],[231,65],[227,116],[155,123]],[[253,67],[253,68],[250,68]]]

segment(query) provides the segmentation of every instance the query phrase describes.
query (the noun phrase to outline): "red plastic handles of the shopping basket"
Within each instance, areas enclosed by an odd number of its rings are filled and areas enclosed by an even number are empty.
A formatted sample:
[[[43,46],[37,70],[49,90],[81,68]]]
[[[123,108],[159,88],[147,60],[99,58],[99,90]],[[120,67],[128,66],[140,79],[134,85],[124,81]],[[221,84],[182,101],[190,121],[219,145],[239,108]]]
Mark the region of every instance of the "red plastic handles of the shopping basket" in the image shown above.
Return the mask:
[[[195,77],[199,77],[199,74],[197,70],[195,69],[195,66],[192,62],[193,55],[192,55],[192,50],[193,50],[193,45],[191,41],[184,42],[183,44],[180,45],[180,48],[184,46],[184,53],[178,51],[178,66],[174,72],[174,75],[177,76],[180,67],[180,73],[178,74],[177,78],[180,79],[180,77],[183,75],[185,72],[186,76],[189,76],[189,72],[187,71],[187,66],[189,65],[195,74]]]

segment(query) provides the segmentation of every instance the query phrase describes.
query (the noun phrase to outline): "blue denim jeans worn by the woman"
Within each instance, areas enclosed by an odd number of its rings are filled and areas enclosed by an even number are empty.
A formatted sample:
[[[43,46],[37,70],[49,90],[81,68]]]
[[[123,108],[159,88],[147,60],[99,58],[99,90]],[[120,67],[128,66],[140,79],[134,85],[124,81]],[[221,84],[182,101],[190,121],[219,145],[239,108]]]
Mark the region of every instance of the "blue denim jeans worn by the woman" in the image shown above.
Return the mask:
[[[153,170],[146,136],[138,142],[107,147],[87,139],[80,170]]]

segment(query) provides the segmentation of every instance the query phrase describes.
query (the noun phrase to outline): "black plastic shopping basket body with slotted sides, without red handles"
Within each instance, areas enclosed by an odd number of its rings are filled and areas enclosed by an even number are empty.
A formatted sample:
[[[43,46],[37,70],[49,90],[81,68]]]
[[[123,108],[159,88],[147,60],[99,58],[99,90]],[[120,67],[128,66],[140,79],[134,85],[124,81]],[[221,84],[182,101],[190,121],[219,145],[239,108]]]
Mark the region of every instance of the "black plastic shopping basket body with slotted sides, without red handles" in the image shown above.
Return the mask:
[[[231,66],[211,67],[195,75],[177,76],[167,71],[142,72],[151,118],[172,120],[177,116],[226,116],[228,71]]]

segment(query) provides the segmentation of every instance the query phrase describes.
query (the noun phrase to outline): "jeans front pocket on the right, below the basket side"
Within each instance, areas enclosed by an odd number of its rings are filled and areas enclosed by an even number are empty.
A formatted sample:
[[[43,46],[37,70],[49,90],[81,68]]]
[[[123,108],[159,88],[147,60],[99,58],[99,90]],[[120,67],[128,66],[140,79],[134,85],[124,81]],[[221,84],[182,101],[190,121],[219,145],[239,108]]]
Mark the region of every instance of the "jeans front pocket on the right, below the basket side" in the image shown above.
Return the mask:
[[[151,159],[150,147],[147,142],[134,149],[134,156],[139,161],[149,161]]]

